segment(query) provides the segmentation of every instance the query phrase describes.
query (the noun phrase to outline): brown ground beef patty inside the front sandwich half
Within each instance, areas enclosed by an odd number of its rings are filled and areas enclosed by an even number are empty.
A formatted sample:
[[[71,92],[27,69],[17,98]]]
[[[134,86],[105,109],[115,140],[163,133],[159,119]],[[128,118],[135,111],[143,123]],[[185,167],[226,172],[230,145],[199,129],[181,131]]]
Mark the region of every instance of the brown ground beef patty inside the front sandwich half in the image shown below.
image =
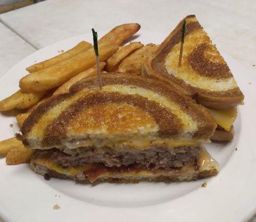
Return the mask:
[[[113,148],[94,149],[83,148],[77,152],[67,154],[61,150],[52,150],[51,160],[54,163],[67,166],[83,166],[88,163],[104,163],[106,166],[128,166],[139,164],[143,168],[180,168],[186,164],[193,164],[198,158],[201,147],[164,147],[148,148],[144,150],[116,150]]]

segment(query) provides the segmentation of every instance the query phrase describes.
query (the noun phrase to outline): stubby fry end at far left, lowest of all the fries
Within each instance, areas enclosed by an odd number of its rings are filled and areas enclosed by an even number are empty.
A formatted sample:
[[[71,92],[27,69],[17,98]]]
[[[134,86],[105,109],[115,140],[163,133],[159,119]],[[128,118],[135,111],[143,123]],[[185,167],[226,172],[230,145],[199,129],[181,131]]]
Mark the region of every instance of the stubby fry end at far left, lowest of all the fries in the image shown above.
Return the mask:
[[[12,149],[7,153],[6,163],[11,165],[29,163],[34,152],[36,150],[28,149],[22,145],[22,147]]]

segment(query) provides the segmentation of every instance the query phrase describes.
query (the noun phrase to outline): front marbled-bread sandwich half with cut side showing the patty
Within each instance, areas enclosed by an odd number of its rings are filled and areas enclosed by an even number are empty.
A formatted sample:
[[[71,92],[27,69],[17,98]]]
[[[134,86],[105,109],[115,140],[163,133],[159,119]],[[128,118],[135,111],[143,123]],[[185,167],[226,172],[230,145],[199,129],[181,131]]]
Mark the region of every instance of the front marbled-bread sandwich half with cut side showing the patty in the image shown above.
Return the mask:
[[[36,149],[31,167],[45,179],[190,181],[218,173],[202,143],[209,111],[170,85],[127,73],[91,76],[49,98],[22,125]]]

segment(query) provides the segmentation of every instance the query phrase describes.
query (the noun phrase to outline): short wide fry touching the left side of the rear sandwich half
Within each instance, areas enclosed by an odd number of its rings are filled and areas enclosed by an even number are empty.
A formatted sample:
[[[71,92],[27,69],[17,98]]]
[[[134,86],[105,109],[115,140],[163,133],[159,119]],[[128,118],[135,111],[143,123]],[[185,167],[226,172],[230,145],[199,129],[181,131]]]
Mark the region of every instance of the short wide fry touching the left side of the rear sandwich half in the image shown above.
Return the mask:
[[[147,44],[126,57],[118,67],[118,72],[141,74],[142,65],[157,50],[155,44]]]

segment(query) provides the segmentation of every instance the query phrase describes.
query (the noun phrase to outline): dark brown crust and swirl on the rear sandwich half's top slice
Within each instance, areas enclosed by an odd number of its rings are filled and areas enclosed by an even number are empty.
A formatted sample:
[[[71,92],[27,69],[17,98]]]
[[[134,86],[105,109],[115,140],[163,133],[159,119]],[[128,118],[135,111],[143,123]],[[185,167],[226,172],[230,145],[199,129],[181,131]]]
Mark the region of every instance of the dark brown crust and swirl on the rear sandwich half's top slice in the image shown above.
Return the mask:
[[[197,19],[194,16],[188,16],[185,19],[187,22],[187,31],[185,36],[193,34],[194,31],[202,29]],[[183,20],[180,21],[178,26],[169,34],[169,36],[160,45],[156,55],[152,59],[148,59],[144,63],[144,72],[149,77],[158,78],[164,80],[170,85],[178,88],[182,93],[187,94],[190,97],[195,97],[199,104],[208,108],[214,109],[227,109],[232,108],[242,102],[244,95],[240,91],[239,87],[235,87],[229,90],[207,90],[203,88],[193,87],[192,85],[185,83],[184,80],[174,77],[169,74],[165,67],[165,58],[168,56],[173,47],[180,42],[181,30]],[[218,63],[212,62],[210,58],[204,55],[205,49],[213,48],[214,52],[218,52],[215,46],[212,45],[208,36],[204,36],[204,44],[195,43],[195,48],[188,56],[187,63],[200,76],[214,79],[227,79],[232,78],[233,75],[228,68],[227,63],[218,54]],[[185,44],[185,43],[184,43]]]

